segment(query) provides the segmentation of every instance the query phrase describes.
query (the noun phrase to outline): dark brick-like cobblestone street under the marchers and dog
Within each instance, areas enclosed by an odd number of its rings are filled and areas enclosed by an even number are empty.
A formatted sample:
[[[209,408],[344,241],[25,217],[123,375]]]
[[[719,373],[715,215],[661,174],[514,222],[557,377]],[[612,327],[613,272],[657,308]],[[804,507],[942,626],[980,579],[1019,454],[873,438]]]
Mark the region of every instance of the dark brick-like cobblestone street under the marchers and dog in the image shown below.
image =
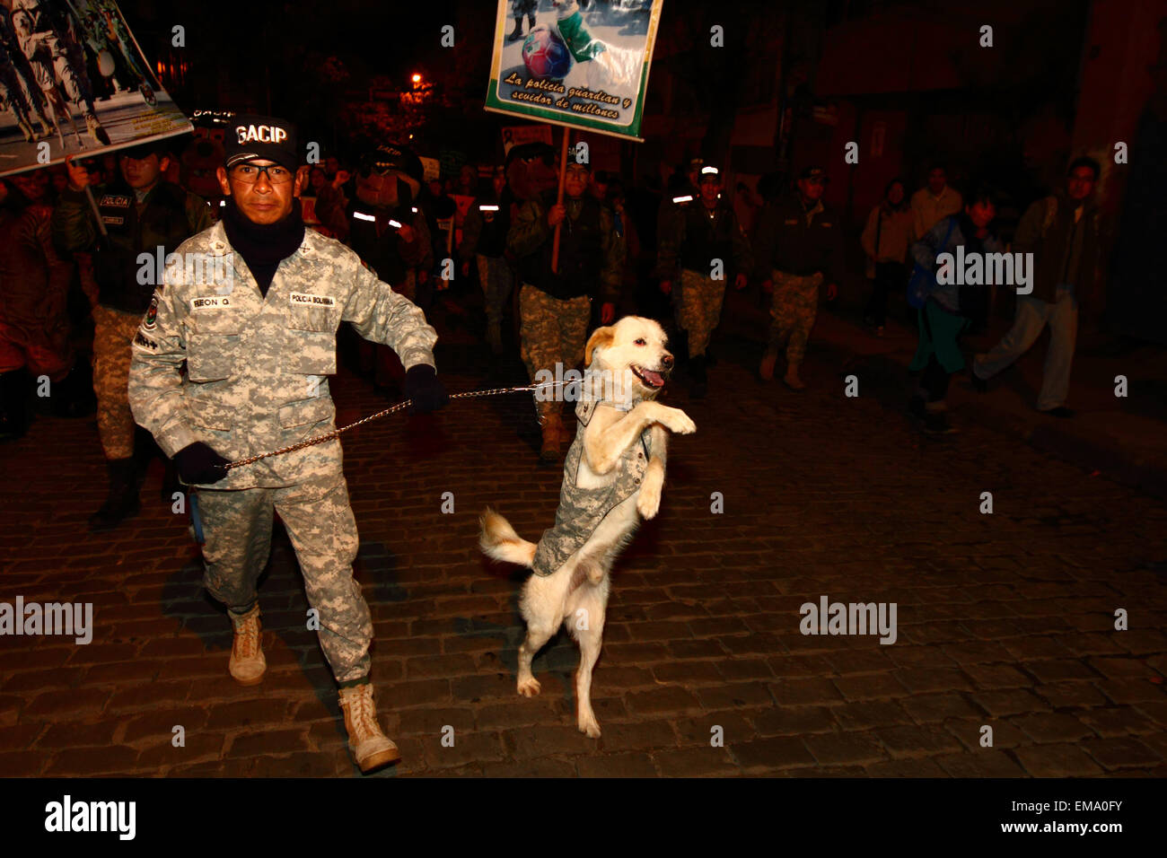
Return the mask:
[[[442,333],[447,388],[494,386],[474,337]],[[672,439],[661,515],[614,571],[599,740],[575,727],[566,633],[534,661],[543,693],[516,693],[526,573],[476,545],[488,503],[527,539],[553,521],[561,472],[537,465],[530,397],[345,435],[373,679],[403,753],[380,776],[1167,774],[1162,501],[978,425],[924,438],[902,379],[861,377],[846,398],[851,355],[813,337],[801,396],[755,379],[753,346],[714,347],[707,399],[666,392],[698,430]],[[347,372],[333,395],[338,425],[384,407]],[[240,688],[158,462],[141,514],[91,535],[92,419],[41,418],[0,456],[0,601],[92,602],[95,626],[89,646],[0,639],[0,775],[356,773],[281,528],[260,585],[268,671]],[[894,644],[801,634],[824,595],[895,602]]]

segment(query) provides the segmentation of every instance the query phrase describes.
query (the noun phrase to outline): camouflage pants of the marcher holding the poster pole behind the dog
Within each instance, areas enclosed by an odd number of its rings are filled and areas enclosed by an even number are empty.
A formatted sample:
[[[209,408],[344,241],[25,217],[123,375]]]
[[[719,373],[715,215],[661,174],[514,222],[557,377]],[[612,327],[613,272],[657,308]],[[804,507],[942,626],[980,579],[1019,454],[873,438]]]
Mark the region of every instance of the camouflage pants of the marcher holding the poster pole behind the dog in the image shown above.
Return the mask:
[[[519,354],[531,381],[540,369],[555,375],[555,364],[562,364],[562,376],[584,362],[587,346],[587,326],[592,320],[592,299],[587,295],[561,301],[543,290],[523,284],[518,293]],[[561,390],[554,390],[554,400],[536,399],[540,420],[560,412]]]

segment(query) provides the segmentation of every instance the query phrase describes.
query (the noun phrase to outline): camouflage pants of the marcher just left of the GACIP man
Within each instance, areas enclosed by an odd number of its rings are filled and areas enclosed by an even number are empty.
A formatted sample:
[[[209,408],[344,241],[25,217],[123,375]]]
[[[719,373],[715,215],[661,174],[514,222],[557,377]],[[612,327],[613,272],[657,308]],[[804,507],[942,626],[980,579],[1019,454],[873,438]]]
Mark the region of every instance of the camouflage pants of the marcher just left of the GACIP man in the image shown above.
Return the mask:
[[[109,460],[134,454],[134,416],[127,388],[131,341],[141,316],[97,305],[93,307],[93,392],[97,395],[97,434]]]

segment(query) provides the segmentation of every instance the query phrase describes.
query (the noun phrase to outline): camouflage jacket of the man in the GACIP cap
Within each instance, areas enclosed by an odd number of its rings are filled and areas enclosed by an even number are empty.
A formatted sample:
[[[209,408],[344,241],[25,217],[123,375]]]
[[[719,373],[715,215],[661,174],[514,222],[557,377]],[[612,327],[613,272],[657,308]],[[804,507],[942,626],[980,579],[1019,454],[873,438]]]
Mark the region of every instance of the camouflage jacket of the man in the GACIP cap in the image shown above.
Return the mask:
[[[128,386],[134,419],[167,455],[203,441],[233,461],[330,432],[342,321],[392,348],[406,369],[434,365],[438,334],[422,312],[314,230],[280,263],[266,300],[222,223],[177,253],[183,270],[167,268],[134,336]],[[214,488],[289,486],[321,473],[341,473],[337,440],[232,469]]]

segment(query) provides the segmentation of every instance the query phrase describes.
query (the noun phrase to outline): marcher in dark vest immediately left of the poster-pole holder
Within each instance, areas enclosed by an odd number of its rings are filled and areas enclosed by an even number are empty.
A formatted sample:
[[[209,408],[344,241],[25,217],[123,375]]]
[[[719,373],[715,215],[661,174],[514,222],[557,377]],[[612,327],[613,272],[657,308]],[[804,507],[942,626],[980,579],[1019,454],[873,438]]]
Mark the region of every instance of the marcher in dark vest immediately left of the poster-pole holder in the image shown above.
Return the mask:
[[[515,288],[515,272],[506,259],[506,231],[510,229],[513,196],[506,187],[506,172],[496,167],[491,177],[492,194],[478,197],[466,215],[462,243],[462,277],[470,274],[470,259],[478,266],[483,304],[487,314],[487,342],[495,355],[503,351],[503,311]]]

